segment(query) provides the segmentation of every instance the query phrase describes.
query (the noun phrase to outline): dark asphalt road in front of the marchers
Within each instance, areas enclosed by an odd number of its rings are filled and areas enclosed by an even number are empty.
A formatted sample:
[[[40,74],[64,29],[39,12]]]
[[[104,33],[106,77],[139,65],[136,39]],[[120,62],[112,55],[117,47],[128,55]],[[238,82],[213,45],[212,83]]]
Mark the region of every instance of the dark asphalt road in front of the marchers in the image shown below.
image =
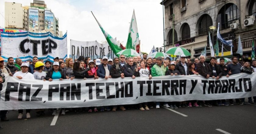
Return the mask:
[[[150,111],[130,109],[104,112],[71,111],[59,115],[55,125],[51,126],[54,116],[46,110],[46,115],[37,117],[32,110],[31,118],[17,119],[18,111],[9,111],[9,121],[1,122],[4,129],[0,134],[94,134],[94,133],[182,133],[182,134],[230,134],[256,133],[256,106],[237,105],[192,107],[174,109],[151,108]],[[220,131],[216,129],[221,129]],[[224,132],[224,133],[225,133]],[[228,134],[226,133],[226,134]]]

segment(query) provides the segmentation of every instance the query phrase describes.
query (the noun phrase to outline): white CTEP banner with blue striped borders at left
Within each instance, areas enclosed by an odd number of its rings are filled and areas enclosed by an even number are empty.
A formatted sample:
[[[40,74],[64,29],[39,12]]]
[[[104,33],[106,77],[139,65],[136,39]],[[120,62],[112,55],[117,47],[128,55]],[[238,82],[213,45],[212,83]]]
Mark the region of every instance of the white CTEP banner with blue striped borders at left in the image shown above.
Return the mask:
[[[39,59],[53,62],[55,57],[67,58],[67,33],[56,37],[52,33],[1,33],[2,57],[5,62],[9,57],[23,61]]]

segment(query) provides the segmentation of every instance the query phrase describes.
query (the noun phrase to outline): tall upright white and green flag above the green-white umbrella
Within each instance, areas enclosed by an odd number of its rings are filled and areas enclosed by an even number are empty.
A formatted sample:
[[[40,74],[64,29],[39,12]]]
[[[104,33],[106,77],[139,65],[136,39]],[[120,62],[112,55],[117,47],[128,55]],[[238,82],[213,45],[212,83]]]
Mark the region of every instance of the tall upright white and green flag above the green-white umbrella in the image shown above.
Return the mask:
[[[131,48],[133,50],[136,50],[136,47],[139,44],[140,44],[139,33],[138,33],[135,13],[133,10],[133,16],[132,16],[131,23],[130,23],[128,39],[127,39],[127,43],[126,43],[126,49]]]

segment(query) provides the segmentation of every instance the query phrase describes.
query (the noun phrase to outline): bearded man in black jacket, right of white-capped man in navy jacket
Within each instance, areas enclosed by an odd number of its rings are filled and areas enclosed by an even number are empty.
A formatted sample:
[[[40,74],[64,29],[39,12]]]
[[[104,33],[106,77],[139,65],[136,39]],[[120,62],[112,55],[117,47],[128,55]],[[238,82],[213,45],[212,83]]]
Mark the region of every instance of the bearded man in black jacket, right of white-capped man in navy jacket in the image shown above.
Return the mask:
[[[120,65],[117,57],[114,58],[114,65],[110,68],[110,75],[112,78],[124,78],[123,67]]]

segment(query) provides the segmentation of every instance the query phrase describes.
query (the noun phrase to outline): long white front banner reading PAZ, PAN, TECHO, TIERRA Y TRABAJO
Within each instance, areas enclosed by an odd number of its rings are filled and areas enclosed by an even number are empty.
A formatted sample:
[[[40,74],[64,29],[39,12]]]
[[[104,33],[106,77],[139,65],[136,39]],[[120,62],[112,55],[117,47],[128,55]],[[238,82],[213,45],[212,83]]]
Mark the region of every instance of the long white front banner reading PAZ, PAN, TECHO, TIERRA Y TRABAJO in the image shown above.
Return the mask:
[[[5,77],[0,110],[76,108],[151,101],[220,100],[256,96],[256,73],[219,80],[202,76],[43,80]]]

